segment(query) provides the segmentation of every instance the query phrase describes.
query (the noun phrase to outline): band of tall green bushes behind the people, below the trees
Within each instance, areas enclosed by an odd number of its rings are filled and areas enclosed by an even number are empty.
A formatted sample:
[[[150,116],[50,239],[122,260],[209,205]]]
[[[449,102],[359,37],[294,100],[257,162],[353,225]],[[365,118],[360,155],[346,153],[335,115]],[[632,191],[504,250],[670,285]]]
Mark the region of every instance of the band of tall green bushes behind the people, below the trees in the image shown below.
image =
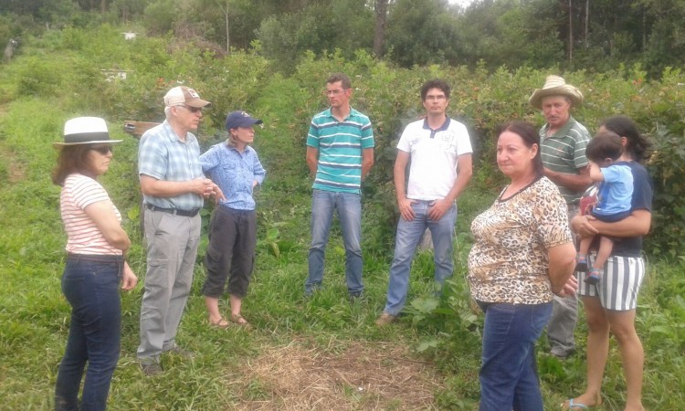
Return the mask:
[[[383,252],[392,244],[397,217],[392,183],[395,145],[406,123],[423,112],[418,90],[425,80],[443,78],[451,84],[448,114],[464,121],[472,134],[476,168],[472,184],[497,191],[504,181],[494,162],[496,126],[513,119],[541,126],[543,117],[528,104],[528,97],[547,75],[562,74],[583,90],[585,102],[573,114],[591,132],[602,119],[620,113],[637,121],[654,143],[656,155],[648,163],[655,182],[654,224],[646,244],[651,253],[680,253],[678,244],[685,230],[681,184],[685,181],[685,75],[680,69],[668,68],[660,80],[648,80],[639,65],[606,73],[525,67],[490,71],[485,63],[474,69],[397,68],[365,51],[349,58],[342,50],[333,50],[321,56],[306,52],[293,57],[298,62],[292,75],[286,76],[275,74],[282,61],[258,55],[258,44],[254,50],[216,58],[192,42],[173,37],[125,41],[120,31],[113,26],[68,28],[31,39],[22,56],[2,72],[0,87],[10,96],[56,99],[67,111],[119,122],[162,121],[163,94],[185,84],[213,102],[205,111],[201,139],[221,138],[228,111],[251,111],[268,123],[261,132],[264,142],[278,135],[292,139],[290,154],[281,154],[283,158],[275,163],[288,163],[296,175],[304,177],[307,171],[301,159],[309,121],[326,107],[321,90],[331,73],[345,72],[353,79],[353,107],[367,113],[374,123],[375,165],[364,184],[370,215],[364,231],[371,233],[367,239],[374,249]],[[108,81],[100,68],[125,69],[129,77]],[[298,160],[283,161],[286,157]]]

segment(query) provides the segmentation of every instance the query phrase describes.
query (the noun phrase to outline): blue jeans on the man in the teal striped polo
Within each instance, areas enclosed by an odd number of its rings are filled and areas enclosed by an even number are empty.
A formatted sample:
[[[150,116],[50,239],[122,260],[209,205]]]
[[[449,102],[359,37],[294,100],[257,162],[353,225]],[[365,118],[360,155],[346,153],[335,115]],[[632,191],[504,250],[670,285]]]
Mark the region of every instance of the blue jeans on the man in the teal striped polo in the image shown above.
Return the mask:
[[[337,193],[314,190],[311,198],[311,248],[309,253],[309,277],[304,282],[305,294],[311,295],[321,288],[326,244],[331,231],[333,212],[338,212],[345,246],[345,279],[347,291],[360,295],[364,291],[362,281],[362,197],[353,193]]]

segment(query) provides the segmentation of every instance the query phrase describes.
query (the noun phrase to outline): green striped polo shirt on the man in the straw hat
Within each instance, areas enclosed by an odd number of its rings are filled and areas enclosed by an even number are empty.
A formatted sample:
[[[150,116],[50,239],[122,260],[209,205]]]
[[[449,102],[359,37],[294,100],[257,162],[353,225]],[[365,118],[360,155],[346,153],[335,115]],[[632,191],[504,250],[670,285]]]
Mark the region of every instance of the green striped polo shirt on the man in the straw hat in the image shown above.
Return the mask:
[[[587,165],[585,147],[590,142],[590,133],[585,126],[573,117],[569,118],[564,127],[547,137],[549,124],[540,129],[542,142],[542,156],[545,167],[557,173],[579,174],[578,169]],[[584,190],[574,191],[558,185],[566,204],[577,204]]]

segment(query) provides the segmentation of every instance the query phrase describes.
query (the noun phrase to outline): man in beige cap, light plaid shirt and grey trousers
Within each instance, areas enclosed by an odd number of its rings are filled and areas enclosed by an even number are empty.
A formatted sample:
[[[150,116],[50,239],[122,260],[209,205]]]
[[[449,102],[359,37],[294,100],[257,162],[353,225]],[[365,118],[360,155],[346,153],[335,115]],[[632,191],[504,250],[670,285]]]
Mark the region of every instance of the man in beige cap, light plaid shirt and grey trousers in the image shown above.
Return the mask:
[[[200,145],[191,131],[209,101],[193,89],[174,87],[164,96],[166,120],[142,134],[138,174],[145,209],[147,273],[141,308],[138,359],[144,374],[161,373],[161,353],[192,353],[176,345],[193,282],[204,198],[223,193],[202,173]]]

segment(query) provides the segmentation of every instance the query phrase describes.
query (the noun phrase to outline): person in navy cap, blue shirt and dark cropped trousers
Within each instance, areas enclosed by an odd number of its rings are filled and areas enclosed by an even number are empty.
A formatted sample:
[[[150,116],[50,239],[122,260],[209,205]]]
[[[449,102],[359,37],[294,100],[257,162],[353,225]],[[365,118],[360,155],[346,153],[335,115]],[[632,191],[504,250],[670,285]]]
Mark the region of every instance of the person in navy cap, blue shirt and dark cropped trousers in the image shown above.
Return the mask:
[[[213,145],[200,156],[202,171],[226,195],[212,214],[205,255],[207,277],[202,293],[212,327],[227,328],[231,322],[249,326],[240,309],[248,293],[257,247],[257,215],[252,192],[262,184],[266,171],[259,163],[257,152],[248,144],[255,139],[253,126],[261,123],[245,111],[231,112],[226,119],[227,141]],[[227,279],[231,309],[228,321],[219,312],[219,298]]]

